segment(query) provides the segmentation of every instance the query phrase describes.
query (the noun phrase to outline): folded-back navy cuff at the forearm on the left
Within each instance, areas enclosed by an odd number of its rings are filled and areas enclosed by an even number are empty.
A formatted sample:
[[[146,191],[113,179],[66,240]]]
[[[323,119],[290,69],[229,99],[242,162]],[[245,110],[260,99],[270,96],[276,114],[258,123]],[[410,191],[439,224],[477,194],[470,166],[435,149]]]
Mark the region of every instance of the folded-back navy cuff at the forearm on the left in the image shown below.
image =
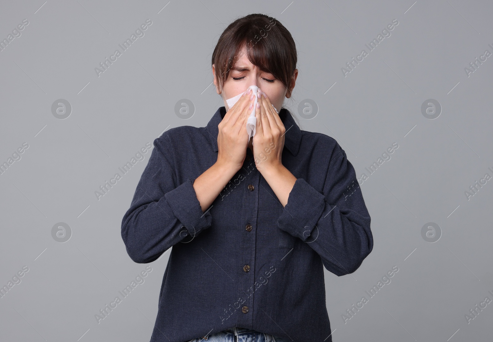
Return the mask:
[[[212,216],[209,210],[205,213],[202,211],[197,193],[193,188],[193,181],[188,178],[164,196],[178,221],[192,237],[195,237],[203,229],[211,227]]]

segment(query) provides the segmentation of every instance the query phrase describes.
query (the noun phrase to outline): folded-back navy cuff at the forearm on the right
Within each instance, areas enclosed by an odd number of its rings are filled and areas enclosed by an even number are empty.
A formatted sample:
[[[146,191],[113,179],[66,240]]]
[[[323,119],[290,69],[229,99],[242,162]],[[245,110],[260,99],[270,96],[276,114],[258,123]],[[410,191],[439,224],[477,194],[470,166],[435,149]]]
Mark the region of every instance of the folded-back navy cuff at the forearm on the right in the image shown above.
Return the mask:
[[[296,179],[279,217],[278,227],[306,241],[322,215],[324,199],[324,195],[303,178]]]

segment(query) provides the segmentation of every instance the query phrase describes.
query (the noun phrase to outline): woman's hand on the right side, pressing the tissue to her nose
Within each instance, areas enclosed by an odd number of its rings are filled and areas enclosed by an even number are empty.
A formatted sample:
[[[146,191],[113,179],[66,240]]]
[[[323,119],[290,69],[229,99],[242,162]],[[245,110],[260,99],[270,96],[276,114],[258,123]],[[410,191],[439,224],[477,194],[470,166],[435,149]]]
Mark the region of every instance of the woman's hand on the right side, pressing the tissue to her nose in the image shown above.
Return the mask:
[[[282,166],[281,159],[286,129],[276,109],[264,93],[261,93],[258,105],[260,106],[255,108],[257,125],[252,143],[255,165],[257,170],[262,173],[262,171]]]

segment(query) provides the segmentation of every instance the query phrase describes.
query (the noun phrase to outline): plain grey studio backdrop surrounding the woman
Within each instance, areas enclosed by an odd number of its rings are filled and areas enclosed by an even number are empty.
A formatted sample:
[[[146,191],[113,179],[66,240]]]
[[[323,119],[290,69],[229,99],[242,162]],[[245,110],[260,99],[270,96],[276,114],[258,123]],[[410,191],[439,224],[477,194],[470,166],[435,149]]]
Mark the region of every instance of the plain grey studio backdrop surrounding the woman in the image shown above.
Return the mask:
[[[217,38],[261,12],[296,41],[299,76],[284,106],[302,129],[335,138],[358,178],[399,145],[361,185],[372,253],[350,275],[324,269],[334,341],[491,341],[493,303],[469,324],[464,315],[493,300],[493,180],[469,200],[464,191],[493,176],[493,56],[469,77],[464,68],[493,53],[492,11],[486,0],[2,1],[1,39],[29,25],[0,51],[0,161],[29,148],[0,175],[0,286],[29,271],[0,299],[0,340],[149,341],[170,250],[100,324],[94,315],[149,266],[130,260],[120,225],[150,151],[100,200],[95,191],[164,130],[207,124],[224,105],[211,85]],[[391,36],[345,77],[393,19]],[[183,98],[195,106],[186,120],[175,114]],[[66,119],[51,112],[58,99],[72,106]],[[304,99],[318,105],[313,119],[297,113]],[[421,112],[427,99],[442,106],[436,119]],[[59,222],[72,231],[64,243],[51,234]],[[421,233],[429,222],[441,228],[434,243]],[[392,266],[391,282],[345,323]]]

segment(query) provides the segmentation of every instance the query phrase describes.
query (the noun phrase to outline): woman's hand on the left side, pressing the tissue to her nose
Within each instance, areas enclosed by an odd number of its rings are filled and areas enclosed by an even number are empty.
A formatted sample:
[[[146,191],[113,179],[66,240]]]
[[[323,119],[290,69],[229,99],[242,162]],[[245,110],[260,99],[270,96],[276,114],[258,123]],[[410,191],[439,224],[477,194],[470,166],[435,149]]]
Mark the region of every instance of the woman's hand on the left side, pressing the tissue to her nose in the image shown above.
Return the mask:
[[[240,170],[246,157],[248,133],[246,121],[253,109],[251,88],[229,109],[217,126],[217,162]],[[251,108],[250,108],[251,107]]]

